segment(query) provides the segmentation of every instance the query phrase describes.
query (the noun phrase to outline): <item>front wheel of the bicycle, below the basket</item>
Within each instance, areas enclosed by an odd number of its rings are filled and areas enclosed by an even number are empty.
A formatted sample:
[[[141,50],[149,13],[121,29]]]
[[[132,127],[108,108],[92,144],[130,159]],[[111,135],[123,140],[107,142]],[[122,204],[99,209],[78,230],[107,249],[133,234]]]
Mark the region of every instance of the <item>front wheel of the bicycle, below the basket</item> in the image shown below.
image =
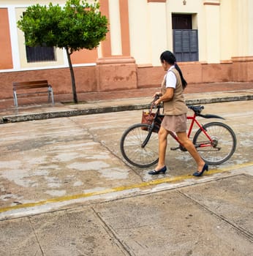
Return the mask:
[[[150,167],[158,162],[158,135],[148,124],[134,124],[121,137],[121,154],[131,165]]]

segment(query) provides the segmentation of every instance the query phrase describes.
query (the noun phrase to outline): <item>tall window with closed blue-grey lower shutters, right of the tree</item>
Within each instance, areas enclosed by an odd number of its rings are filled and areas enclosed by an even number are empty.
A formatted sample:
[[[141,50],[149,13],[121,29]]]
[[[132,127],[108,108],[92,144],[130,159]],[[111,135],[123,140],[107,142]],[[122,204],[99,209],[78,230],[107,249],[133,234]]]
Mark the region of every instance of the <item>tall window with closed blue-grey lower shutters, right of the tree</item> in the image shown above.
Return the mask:
[[[192,15],[175,15],[173,20],[173,53],[177,61],[198,61],[198,34],[192,29]]]

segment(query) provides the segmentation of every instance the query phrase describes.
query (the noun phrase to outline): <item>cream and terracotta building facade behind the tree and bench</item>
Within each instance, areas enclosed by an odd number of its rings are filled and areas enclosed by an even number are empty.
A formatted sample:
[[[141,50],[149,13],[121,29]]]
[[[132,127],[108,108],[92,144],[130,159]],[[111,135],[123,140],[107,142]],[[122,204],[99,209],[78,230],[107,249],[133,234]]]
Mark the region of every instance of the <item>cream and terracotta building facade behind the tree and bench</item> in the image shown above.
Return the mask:
[[[55,95],[72,93],[64,50],[55,49],[53,61],[27,59],[16,23],[30,4],[0,0],[0,99],[12,98],[14,81],[48,80]],[[100,10],[107,39],[72,54],[78,93],[159,86],[163,50],[176,53],[188,83],[253,81],[250,0],[100,0]]]

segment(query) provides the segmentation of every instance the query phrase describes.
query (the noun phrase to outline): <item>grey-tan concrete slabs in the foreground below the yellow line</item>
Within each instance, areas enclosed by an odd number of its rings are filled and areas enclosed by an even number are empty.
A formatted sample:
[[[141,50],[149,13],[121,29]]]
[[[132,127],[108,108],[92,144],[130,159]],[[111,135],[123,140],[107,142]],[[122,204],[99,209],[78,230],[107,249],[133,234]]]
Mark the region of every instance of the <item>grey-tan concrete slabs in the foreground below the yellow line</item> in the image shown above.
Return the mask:
[[[4,256],[251,256],[249,174],[0,221]],[[251,173],[251,174],[250,174]],[[101,197],[100,200],[103,200]]]

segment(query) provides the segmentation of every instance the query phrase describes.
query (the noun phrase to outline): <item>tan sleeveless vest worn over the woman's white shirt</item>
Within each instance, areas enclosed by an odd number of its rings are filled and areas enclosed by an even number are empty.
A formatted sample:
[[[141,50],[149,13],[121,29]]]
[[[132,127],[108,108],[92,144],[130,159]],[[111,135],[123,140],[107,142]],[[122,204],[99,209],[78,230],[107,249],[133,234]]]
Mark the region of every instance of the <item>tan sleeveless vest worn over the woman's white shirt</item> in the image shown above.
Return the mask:
[[[188,108],[184,102],[183,95],[183,86],[181,82],[181,77],[178,73],[178,70],[173,68],[169,72],[173,72],[176,78],[176,85],[174,89],[173,98],[167,102],[163,102],[164,105],[164,114],[168,116],[178,116],[187,113]],[[162,82],[162,94],[165,94],[166,88],[166,79]]]

